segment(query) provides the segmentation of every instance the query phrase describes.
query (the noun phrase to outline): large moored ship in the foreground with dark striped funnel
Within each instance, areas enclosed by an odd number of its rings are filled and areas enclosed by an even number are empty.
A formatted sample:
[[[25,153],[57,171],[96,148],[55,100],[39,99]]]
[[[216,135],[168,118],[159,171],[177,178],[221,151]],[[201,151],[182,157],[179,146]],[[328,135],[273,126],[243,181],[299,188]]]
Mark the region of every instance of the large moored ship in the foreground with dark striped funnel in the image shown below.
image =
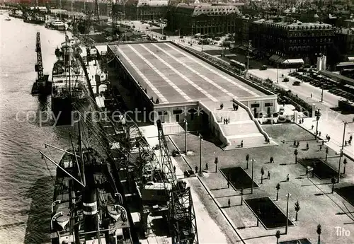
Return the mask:
[[[64,151],[57,177],[50,221],[52,244],[132,244],[130,221],[115,187],[110,163],[91,147]],[[50,146],[45,144],[46,147]],[[50,146],[58,149],[55,146]]]

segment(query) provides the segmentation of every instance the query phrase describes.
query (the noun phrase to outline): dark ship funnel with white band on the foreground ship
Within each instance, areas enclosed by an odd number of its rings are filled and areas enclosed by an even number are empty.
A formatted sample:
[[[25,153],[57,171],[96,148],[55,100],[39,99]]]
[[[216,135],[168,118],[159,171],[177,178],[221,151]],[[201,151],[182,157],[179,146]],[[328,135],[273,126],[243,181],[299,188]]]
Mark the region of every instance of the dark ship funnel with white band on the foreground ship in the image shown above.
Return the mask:
[[[86,187],[83,198],[84,224],[85,231],[97,231],[98,228],[98,212],[96,188]]]

